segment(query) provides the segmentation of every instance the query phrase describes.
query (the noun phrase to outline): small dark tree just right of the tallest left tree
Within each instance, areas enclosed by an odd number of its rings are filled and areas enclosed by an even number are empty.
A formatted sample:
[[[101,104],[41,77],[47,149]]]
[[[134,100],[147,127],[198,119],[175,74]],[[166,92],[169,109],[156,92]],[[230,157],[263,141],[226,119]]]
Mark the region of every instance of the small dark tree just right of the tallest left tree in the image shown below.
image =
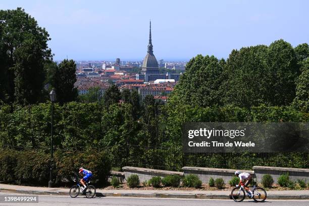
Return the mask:
[[[52,85],[57,92],[57,101],[60,104],[74,101],[77,98],[76,64],[73,60],[63,60],[52,75]]]

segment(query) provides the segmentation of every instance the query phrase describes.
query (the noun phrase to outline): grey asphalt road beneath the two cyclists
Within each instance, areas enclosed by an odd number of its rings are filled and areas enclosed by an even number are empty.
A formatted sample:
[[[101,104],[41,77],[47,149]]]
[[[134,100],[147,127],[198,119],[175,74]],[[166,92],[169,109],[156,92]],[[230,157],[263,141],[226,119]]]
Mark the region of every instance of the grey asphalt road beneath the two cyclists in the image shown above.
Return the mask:
[[[0,192],[0,195],[21,195],[13,193]],[[309,200],[269,200],[264,203],[259,203],[262,205],[309,205]],[[132,198],[132,197],[95,197],[92,199],[87,199],[83,196],[77,198],[71,198],[69,196],[47,196],[39,195],[38,203],[4,203],[0,202],[0,206],[6,205],[37,205],[37,206],[92,206],[92,205],[120,205],[120,206],[205,206],[205,205],[255,205],[256,203],[251,200],[245,200],[243,202],[234,202],[233,200],[199,200],[199,199],[168,199],[168,198]]]

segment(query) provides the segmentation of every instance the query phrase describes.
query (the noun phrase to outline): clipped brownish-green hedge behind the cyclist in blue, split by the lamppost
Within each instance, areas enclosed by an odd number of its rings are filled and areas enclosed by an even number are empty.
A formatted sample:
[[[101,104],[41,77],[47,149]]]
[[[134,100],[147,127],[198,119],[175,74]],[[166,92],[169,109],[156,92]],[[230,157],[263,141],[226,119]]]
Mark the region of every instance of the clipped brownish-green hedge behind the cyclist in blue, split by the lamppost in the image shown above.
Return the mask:
[[[0,181],[20,185],[47,185],[50,154],[43,150],[0,151]],[[56,167],[55,167],[56,166]],[[111,163],[105,152],[60,152],[54,154],[53,178],[55,184],[71,181],[80,167],[93,173],[93,180],[106,183]]]

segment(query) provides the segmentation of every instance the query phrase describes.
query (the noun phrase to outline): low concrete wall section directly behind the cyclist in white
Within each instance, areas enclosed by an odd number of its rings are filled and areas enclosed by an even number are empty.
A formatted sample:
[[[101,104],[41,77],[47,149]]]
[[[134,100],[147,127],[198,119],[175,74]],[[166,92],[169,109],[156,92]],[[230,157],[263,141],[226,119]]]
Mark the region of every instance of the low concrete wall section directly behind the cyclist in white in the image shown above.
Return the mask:
[[[210,178],[222,178],[227,184],[232,177],[235,176],[236,170],[231,169],[219,169],[219,168],[200,168],[200,167],[183,167],[184,175],[196,174],[203,183],[209,183]],[[247,172],[254,178],[254,172],[251,170],[240,170],[241,172]]]

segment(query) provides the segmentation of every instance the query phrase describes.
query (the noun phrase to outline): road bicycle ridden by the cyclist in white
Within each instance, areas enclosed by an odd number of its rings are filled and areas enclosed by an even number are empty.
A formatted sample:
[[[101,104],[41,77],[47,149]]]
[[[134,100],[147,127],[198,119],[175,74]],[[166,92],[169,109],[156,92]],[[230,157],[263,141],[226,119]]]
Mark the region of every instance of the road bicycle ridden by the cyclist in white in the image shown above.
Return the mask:
[[[253,193],[252,198],[255,202],[264,202],[267,197],[267,193],[262,187],[253,186],[251,188],[251,192]],[[236,187],[232,189],[231,197],[234,201],[241,202],[246,196],[250,197],[249,193],[244,189],[243,185],[236,185]]]

